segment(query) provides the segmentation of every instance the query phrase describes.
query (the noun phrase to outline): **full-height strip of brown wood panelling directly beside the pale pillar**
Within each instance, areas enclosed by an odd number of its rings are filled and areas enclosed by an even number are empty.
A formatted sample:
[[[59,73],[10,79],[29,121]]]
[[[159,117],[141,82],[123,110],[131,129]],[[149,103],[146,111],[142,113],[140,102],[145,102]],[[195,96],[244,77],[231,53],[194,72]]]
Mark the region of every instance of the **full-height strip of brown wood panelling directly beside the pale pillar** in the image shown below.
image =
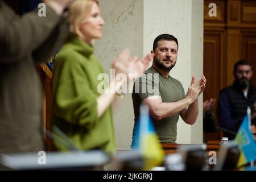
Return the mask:
[[[209,3],[216,3],[217,17],[208,15]],[[216,115],[220,89],[226,86],[226,1],[204,1],[204,74],[207,77],[207,87],[204,90],[204,101],[216,98],[213,111]],[[217,117],[216,125],[218,126]],[[204,142],[218,140],[221,131],[204,132]]]

